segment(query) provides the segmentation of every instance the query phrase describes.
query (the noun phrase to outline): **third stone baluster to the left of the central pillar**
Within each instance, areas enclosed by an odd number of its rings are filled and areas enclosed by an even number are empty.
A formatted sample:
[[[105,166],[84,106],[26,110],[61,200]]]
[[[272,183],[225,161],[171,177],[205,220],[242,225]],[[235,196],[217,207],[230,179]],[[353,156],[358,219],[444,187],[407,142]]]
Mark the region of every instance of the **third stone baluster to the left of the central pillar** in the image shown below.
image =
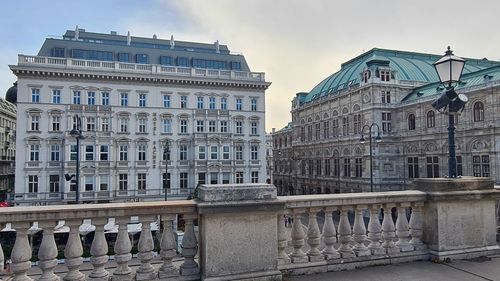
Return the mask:
[[[142,223],[141,235],[139,236],[137,258],[141,261],[141,265],[137,269],[136,280],[153,280],[156,278],[156,272],[151,260],[154,257],[154,241],[151,235],[151,222],[154,221],[153,216],[140,216]]]

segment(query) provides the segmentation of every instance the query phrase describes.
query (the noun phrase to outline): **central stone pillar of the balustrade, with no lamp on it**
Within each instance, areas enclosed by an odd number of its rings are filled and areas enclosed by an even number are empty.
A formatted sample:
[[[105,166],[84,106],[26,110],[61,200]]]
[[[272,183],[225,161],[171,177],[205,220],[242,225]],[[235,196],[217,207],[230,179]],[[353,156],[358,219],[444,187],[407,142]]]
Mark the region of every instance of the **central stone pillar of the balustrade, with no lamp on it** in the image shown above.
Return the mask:
[[[202,185],[197,208],[202,280],[282,280],[274,185]]]

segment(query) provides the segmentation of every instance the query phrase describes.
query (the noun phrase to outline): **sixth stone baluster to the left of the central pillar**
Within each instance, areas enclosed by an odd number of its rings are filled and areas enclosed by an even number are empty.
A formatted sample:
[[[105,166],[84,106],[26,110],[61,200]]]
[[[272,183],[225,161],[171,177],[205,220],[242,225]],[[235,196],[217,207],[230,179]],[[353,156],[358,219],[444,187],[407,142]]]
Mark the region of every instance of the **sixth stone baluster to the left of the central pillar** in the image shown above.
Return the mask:
[[[80,272],[83,263],[82,240],[80,239],[80,225],[82,220],[66,220],[65,225],[69,227],[68,242],[64,249],[64,263],[68,268],[68,274],[64,276],[64,281],[83,281],[85,275]]]

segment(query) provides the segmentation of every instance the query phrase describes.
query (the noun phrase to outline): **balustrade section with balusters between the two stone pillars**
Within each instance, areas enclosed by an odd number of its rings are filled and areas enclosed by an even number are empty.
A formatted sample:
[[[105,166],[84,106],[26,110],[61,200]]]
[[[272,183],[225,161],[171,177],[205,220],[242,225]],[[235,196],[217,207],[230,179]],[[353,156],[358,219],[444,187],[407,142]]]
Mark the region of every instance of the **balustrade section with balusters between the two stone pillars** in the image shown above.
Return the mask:
[[[426,195],[421,191],[279,199],[286,207],[278,215],[281,270],[361,261],[383,264],[388,257],[419,259],[427,254],[422,242]]]

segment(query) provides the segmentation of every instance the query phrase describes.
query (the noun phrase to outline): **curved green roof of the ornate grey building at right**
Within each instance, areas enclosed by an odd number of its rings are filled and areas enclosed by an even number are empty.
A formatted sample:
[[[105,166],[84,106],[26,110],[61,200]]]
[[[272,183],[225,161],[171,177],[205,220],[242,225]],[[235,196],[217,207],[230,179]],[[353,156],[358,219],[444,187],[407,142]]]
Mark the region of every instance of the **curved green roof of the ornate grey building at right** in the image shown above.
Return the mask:
[[[437,82],[439,78],[433,63],[441,57],[441,55],[372,49],[343,63],[339,71],[328,76],[314,87],[302,100],[302,103],[307,103],[329,94],[335,94],[348,87],[359,85],[361,73],[370,67],[389,67],[395,72],[397,80],[419,81],[423,83]],[[488,60],[466,59],[463,73],[475,72],[495,65],[499,65],[499,63]]]

